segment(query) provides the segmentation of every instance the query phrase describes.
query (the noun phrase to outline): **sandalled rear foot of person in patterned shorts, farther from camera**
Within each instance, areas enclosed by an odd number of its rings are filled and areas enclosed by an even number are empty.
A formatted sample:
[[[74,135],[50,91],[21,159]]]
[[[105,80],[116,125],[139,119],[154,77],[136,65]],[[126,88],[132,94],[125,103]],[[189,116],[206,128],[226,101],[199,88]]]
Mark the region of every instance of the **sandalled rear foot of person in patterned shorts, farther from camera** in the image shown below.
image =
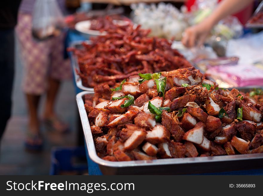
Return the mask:
[[[43,123],[48,131],[56,131],[59,133],[69,132],[68,124],[64,123],[57,117],[46,118],[43,120]]]

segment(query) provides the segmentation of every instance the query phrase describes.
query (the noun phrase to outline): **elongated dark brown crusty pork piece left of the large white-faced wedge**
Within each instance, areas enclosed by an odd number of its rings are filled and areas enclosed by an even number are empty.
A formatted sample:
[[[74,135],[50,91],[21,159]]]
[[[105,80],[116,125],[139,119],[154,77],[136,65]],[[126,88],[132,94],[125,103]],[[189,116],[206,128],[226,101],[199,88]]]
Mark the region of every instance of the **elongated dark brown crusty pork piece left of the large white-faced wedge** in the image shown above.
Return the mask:
[[[172,137],[176,142],[181,142],[184,136],[184,130],[175,123],[172,116],[167,111],[162,113],[162,125],[165,126],[167,130],[170,131]]]

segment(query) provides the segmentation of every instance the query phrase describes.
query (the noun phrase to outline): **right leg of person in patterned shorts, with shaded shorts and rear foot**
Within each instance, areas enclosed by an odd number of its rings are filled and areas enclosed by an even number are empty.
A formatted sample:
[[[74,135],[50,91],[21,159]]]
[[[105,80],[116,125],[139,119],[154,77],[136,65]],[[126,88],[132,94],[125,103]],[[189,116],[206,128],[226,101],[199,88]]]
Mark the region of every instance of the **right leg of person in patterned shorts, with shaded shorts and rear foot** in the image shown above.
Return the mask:
[[[45,125],[53,131],[68,131],[68,125],[62,122],[55,112],[56,97],[59,92],[60,82],[71,78],[69,59],[64,59],[64,35],[52,38],[51,69],[49,72],[47,98],[43,114]]]

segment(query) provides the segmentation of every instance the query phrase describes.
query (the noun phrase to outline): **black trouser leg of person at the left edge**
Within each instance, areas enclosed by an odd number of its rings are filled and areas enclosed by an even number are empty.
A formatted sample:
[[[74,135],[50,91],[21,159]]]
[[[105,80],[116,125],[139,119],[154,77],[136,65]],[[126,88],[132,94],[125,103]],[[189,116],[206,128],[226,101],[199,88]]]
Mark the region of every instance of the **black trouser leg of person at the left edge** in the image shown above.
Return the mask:
[[[0,141],[11,115],[14,77],[14,29],[0,30]]]

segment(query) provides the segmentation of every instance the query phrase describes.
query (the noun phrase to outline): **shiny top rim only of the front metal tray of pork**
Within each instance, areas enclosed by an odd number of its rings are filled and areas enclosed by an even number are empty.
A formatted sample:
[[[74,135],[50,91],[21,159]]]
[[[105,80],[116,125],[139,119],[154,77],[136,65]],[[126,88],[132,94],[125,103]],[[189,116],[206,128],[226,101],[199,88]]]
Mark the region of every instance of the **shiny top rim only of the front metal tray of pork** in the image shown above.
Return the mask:
[[[236,161],[247,159],[263,159],[263,154],[246,154],[246,155],[223,155],[214,157],[195,157],[195,158],[170,158],[170,159],[156,159],[156,160],[134,160],[134,161],[107,161],[99,158],[96,153],[91,129],[88,121],[88,116],[84,107],[82,96],[85,94],[92,94],[93,92],[83,91],[76,95],[79,115],[82,122],[85,141],[88,148],[88,155],[95,163],[108,167],[131,167],[131,166],[157,166],[157,165],[176,165],[183,163],[207,163],[207,162],[222,162],[222,161]]]

